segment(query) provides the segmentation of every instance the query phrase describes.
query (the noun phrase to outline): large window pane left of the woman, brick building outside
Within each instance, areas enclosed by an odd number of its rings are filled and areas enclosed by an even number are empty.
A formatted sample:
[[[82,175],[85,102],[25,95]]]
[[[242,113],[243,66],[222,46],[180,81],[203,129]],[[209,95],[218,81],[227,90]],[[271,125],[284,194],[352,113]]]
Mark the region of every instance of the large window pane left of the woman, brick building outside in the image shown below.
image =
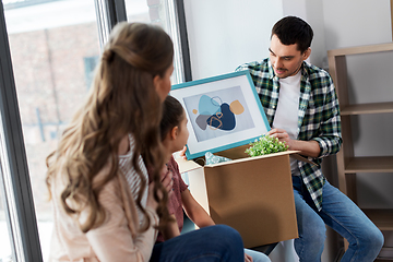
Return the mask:
[[[95,3],[94,0],[3,0],[3,4],[46,261],[52,213],[45,183],[45,160],[56,148],[59,134],[83,103],[92,83],[100,52]],[[1,252],[5,251],[4,246],[0,247]]]

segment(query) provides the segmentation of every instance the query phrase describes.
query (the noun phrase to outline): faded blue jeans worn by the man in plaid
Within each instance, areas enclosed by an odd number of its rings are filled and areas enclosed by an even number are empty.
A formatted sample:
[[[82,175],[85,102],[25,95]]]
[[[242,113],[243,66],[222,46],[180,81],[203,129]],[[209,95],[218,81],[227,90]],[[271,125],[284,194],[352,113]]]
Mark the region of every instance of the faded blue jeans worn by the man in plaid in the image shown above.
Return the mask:
[[[293,184],[299,230],[295,250],[301,262],[321,261],[325,224],[349,242],[341,261],[374,261],[383,246],[383,235],[349,198],[326,181],[322,210],[318,211],[301,178],[293,176]]]

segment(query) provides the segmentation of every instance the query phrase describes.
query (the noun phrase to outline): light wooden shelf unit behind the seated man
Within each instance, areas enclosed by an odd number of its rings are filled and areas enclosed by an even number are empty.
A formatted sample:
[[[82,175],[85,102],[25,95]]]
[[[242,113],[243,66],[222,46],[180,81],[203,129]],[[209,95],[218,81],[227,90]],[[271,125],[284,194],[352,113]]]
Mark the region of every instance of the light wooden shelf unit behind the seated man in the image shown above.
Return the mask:
[[[354,116],[368,114],[392,114],[393,97],[391,102],[350,105],[347,86],[348,79],[346,56],[384,51],[393,51],[393,43],[373,46],[342,48],[327,51],[329,70],[338,96],[342,115],[342,135],[344,141],[342,150],[336,156],[338,187],[340,190],[347,194],[355,203],[357,203],[356,174],[393,172],[393,155],[356,157],[352,139],[353,132],[350,127],[350,118]],[[391,132],[393,132],[393,130]],[[393,230],[393,209],[364,210],[364,212],[381,230]],[[389,258],[388,260],[393,261],[393,258]],[[383,258],[382,260],[377,261],[386,260]]]

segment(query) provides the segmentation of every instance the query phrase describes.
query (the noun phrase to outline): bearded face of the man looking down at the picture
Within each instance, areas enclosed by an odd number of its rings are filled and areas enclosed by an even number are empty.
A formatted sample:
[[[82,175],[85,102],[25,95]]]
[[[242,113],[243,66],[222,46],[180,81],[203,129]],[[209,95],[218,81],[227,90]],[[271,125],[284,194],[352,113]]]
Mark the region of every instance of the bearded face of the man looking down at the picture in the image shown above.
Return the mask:
[[[272,36],[269,51],[274,73],[279,79],[285,79],[287,76],[297,74],[302,61],[306,60],[311,53],[310,48],[301,53],[297,49],[297,44],[289,46],[283,45],[276,35]]]

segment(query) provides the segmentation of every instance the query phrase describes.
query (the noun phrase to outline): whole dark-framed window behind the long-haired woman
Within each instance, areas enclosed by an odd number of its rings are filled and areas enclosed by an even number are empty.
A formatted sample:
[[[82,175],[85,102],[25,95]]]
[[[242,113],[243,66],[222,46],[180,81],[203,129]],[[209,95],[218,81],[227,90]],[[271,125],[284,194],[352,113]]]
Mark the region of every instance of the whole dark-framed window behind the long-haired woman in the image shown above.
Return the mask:
[[[109,28],[109,22],[99,13],[102,7],[115,4],[124,13],[126,8],[128,21],[150,23],[153,4],[159,9],[160,25],[176,39],[169,28],[176,21],[165,16],[175,10],[169,9],[172,0],[157,1],[0,2],[1,262],[48,259],[52,213],[45,159],[56,148],[60,133],[92,83],[100,39]],[[158,20],[152,22],[158,24]],[[3,59],[3,52],[9,61]],[[172,82],[178,83],[180,76]]]

